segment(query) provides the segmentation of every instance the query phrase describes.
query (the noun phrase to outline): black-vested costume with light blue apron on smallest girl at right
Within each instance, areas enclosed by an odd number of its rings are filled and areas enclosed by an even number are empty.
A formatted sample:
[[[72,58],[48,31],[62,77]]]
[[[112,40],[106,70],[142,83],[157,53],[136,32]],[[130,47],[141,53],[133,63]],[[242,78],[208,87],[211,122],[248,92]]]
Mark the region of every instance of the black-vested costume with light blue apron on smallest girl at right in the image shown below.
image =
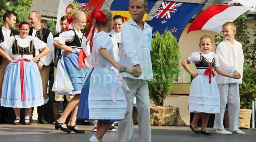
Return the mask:
[[[218,64],[218,56],[214,52],[205,54],[195,52],[189,58],[189,62],[195,63],[198,76],[191,82],[189,94],[189,111],[193,113],[219,113],[220,94],[218,86],[212,75],[213,67]]]

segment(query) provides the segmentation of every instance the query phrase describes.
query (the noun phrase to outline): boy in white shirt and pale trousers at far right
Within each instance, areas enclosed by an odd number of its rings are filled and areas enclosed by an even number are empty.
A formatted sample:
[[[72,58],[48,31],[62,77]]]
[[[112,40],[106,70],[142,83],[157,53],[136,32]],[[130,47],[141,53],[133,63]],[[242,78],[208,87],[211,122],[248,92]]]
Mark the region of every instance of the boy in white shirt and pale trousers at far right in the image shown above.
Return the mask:
[[[223,36],[225,40],[220,42],[216,48],[216,54],[220,64],[220,69],[235,76],[241,76],[239,80],[227,78],[216,73],[214,77],[220,92],[220,113],[215,114],[214,128],[216,134],[245,134],[239,130],[239,114],[240,114],[240,96],[239,84],[242,83],[243,77],[243,49],[241,43],[235,41],[235,24],[227,22],[222,26]],[[225,108],[228,103],[229,107],[229,130],[224,129],[223,117]]]

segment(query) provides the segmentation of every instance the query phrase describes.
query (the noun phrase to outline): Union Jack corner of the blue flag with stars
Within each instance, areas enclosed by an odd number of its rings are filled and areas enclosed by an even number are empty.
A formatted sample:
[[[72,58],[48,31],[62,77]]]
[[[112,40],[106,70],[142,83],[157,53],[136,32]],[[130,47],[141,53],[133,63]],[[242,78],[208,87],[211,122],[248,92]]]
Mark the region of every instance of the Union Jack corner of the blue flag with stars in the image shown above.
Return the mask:
[[[162,3],[162,7],[160,7],[157,12],[155,13],[154,17],[156,18],[164,18],[166,16],[166,19],[171,18],[170,12],[176,12],[177,9],[175,9],[178,6],[181,6],[183,3],[177,3],[177,2],[166,2],[164,1]]]

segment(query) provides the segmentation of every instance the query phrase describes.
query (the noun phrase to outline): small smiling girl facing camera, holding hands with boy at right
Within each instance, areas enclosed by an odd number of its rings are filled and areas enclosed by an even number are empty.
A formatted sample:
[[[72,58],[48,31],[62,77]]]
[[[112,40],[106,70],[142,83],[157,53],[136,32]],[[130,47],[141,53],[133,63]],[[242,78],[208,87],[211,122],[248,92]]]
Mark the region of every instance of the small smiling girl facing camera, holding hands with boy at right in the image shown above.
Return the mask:
[[[229,74],[220,69],[218,56],[212,52],[214,43],[208,35],[201,37],[199,47],[200,52],[193,53],[189,58],[181,63],[191,76],[190,94],[189,94],[189,111],[195,113],[190,128],[196,134],[212,135],[206,129],[210,113],[220,112],[220,94],[215,79],[212,77],[214,70],[226,77],[235,78],[233,74]],[[195,63],[197,73],[189,68],[190,63]],[[236,78],[239,79],[239,78]],[[202,117],[201,130],[197,128],[197,122]]]

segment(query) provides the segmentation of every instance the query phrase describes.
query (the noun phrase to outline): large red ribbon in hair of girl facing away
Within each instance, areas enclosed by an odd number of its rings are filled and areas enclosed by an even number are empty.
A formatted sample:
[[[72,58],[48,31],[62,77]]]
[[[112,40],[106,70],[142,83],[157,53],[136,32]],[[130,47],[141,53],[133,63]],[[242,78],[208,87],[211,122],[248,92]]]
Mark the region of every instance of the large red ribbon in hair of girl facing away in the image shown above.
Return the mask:
[[[93,22],[93,18],[95,17],[95,19],[98,21],[98,22],[105,22],[107,20],[107,17],[105,15],[104,12],[102,12],[101,10],[93,10],[92,13],[90,14],[90,16],[88,17],[87,19],[87,22],[90,23],[86,33],[84,34],[84,36],[87,38],[90,31],[92,31],[92,36],[90,37],[90,52],[92,53],[92,38],[94,36],[94,31],[95,31],[95,28],[96,28],[96,23],[92,29],[92,22]]]

